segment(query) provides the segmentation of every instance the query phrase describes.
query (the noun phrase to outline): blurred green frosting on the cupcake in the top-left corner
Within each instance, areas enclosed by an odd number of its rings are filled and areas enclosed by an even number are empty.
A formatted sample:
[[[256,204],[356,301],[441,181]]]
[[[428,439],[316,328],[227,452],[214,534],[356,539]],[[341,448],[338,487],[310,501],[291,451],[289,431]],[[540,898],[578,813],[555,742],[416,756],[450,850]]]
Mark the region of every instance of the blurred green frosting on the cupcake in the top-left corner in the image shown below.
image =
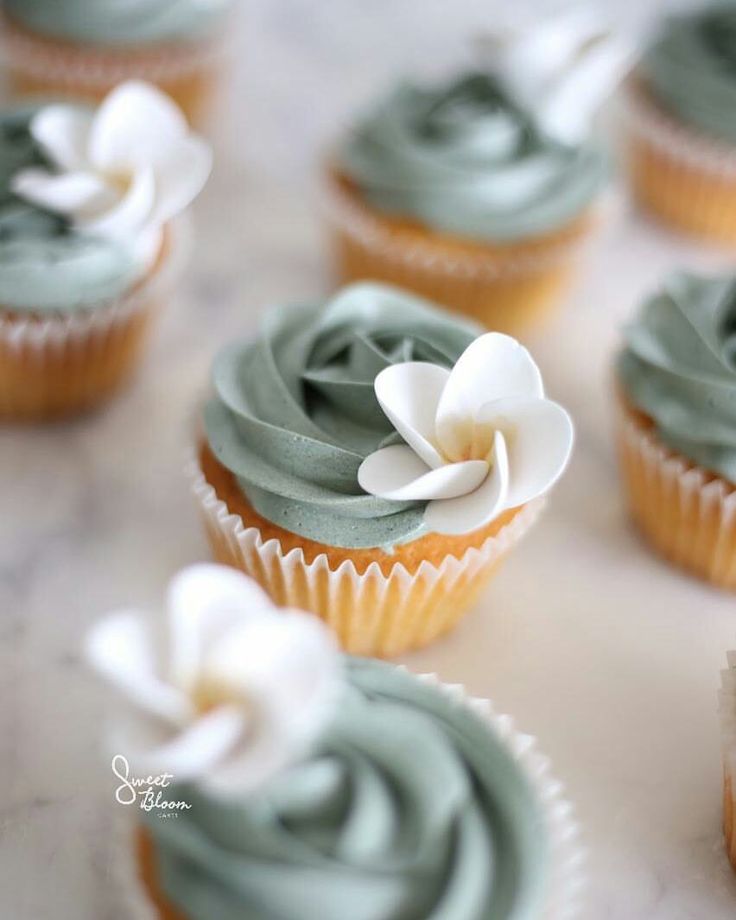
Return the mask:
[[[3,0],[17,22],[52,38],[99,45],[187,41],[222,25],[233,0]]]

